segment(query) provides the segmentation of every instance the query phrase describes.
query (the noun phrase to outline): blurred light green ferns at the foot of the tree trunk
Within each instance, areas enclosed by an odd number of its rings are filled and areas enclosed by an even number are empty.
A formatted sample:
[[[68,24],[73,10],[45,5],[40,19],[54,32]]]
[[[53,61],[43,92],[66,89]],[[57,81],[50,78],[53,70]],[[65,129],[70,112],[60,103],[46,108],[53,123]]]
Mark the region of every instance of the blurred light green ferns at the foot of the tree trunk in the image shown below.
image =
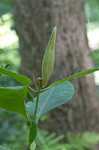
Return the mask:
[[[65,139],[64,143],[60,142],[63,139]],[[66,136],[56,137],[56,133],[49,134],[45,130],[40,130],[37,140],[37,150],[89,150],[98,144],[99,134],[84,132],[72,135],[67,132]]]

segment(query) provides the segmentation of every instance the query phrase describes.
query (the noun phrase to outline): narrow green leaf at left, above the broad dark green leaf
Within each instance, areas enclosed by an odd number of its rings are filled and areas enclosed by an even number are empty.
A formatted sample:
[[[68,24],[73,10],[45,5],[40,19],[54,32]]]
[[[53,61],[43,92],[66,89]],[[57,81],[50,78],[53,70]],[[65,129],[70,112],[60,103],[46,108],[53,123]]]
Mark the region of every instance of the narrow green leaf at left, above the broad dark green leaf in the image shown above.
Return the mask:
[[[31,83],[31,80],[29,78],[3,68],[0,68],[0,74],[8,75],[9,77],[15,79],[16,81],[25,86],[28,86]]]

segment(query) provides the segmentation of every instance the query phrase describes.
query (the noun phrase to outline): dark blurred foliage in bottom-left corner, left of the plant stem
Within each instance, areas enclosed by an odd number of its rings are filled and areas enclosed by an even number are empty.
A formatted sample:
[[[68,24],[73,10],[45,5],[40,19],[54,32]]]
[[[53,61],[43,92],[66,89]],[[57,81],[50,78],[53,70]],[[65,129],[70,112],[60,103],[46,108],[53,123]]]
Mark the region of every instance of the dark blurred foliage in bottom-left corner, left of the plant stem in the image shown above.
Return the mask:
[[[0,118],[0,145],[24,150],[28,145],[28,132],[23,117],[0,111]]]

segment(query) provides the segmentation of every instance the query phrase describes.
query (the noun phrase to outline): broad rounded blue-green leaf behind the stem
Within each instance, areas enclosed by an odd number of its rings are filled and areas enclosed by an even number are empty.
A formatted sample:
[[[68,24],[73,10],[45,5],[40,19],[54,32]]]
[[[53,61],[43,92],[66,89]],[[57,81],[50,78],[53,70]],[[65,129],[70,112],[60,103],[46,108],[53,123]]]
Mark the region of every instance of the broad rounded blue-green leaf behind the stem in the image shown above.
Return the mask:
[[[74,88],[68,81],[62,83],[40,94],[37,118],[49,110],[66,103],[74,95]],[[33,102],[28,102],[26,107],[29,114],[32,116],[35,110],[36,98]]]

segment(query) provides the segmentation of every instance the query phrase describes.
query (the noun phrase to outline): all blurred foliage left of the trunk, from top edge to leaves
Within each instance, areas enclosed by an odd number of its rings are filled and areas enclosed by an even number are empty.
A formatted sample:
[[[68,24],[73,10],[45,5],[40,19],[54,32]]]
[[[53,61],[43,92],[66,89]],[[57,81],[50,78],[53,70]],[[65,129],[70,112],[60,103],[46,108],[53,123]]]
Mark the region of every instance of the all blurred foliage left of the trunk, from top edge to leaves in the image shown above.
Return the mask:
[[[18,71],[20,66],[19,45],[12,14],[12,1],[1,0],[0,7],[0,66],[9,64],[9,69]],[[10,8],[10,11],[7,8]],[[6,11],[5,11],[6,10]],[[0,86],[13,86],[16,82],[7,76],[0,76]]]

